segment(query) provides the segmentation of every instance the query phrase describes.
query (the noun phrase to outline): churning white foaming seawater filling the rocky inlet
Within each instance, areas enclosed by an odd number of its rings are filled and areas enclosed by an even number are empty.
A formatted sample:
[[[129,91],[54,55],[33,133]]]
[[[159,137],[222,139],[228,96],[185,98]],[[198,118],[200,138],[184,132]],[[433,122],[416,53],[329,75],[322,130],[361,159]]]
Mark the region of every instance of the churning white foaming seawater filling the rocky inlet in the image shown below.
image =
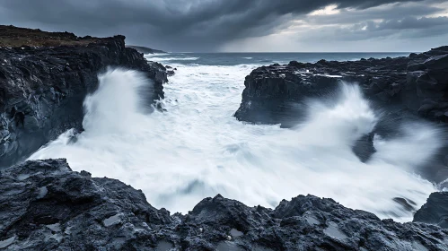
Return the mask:
[[[171,212],[217,194],[266,207],[311,194],[408,221],[412,212],[392,199],[419,208],[436,191],[416,174],[443,145],[435,125],[408,121],[396,125],[398,137],[375,136],[377,152],[363,163],[352,145],[382,114],[355,84],[341,84],[331,102],[310,100],[308,117],[292,129],[251,125],[233,114],[245,76],[259,63],[204,65],[199,57],[157,57],[178,69],[163,87],[165,111],[148,112],[142,90],[152,82],[138,72],[101,74],[98,91],[84,100],[84,131],[61,134],[30,159],[66,158],[72,169],[117,178]]]

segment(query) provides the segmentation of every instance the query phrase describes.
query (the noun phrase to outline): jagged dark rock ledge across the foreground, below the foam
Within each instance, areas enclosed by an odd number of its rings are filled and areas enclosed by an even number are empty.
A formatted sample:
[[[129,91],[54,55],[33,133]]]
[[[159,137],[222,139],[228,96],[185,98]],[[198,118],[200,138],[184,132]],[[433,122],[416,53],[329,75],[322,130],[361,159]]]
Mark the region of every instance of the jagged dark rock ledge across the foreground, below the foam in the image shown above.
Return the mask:
[[[448,231],[380,220],[312,195],[275,210],[221,195],[187,215],[157,210],[119,180],[34,160],[0,172],[7,250],[446,250]]]

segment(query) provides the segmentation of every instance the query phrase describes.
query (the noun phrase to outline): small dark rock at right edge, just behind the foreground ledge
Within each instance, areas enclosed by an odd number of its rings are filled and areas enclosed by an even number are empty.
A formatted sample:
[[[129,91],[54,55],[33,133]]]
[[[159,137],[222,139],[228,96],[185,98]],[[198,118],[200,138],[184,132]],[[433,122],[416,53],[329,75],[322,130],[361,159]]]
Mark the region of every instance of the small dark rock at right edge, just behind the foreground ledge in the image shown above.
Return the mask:
[[[426,203],[414,215],[414,222],[425,222],[448,229],[448,192],[429,195]]]

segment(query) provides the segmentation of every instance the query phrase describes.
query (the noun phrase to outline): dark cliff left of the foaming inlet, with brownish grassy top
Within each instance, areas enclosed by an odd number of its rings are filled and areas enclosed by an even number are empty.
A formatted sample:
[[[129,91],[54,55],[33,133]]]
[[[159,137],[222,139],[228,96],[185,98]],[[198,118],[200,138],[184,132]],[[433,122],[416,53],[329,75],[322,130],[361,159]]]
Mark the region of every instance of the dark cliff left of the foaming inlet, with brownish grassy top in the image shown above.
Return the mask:
[[[163,98],[166,69],[124,39],[0,26],[0,168],[69,128],[82,130],[83,99],[107,66],[141,71],[154,80],[149,100]]]

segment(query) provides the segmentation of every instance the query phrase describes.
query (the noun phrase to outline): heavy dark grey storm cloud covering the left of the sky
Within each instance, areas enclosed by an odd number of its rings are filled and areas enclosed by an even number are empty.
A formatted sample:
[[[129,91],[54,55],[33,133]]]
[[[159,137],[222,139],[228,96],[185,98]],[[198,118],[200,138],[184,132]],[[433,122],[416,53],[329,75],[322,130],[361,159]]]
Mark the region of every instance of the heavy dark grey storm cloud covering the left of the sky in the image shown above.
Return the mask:
[[[130,42],[141,45],[198,51],[214,50],[234,39],[275,33],[288,27],[291,20],[304,18],[305,14],[329,4],[338,4],[341,10],[349,8],[363,12],[382,4],[422,1],[3,0],[0,22],[48,30],[70,30],[81,35],[122,33],[127,35]],[[440,11],[436,7],[423,6],[414,11],[419,14]],[[360,16],[352,22],[359,22],[362,18]],[[418,23],[424,25],[423,22]],[[432,25],[430,22],[426,24]]]

